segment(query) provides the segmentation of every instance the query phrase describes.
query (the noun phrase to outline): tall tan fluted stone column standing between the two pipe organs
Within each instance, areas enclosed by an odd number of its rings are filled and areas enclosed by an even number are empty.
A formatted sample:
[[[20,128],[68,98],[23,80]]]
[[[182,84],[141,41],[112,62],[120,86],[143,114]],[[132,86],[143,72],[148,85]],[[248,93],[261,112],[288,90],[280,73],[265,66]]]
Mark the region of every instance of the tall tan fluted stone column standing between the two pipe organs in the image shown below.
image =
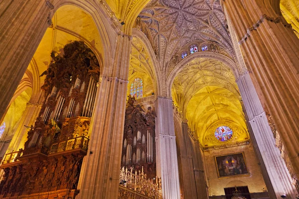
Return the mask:
[[[88,154],[84,157],[79,199],[117,199],[124,135],[130,38],[118,36],[113,68],[98,83]]]

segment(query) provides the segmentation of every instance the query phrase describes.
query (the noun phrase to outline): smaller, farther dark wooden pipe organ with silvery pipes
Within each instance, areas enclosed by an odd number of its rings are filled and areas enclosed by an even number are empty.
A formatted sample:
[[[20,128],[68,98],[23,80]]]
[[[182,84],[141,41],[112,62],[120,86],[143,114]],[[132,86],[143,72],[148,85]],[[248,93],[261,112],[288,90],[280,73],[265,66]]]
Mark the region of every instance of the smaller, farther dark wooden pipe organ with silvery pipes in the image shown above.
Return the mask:
[[[149,106],[147,112],[135,97],[129,96],[126,108],[122,151],[122,167],[142,171],[149,178],[156,177],[155,112]]]

